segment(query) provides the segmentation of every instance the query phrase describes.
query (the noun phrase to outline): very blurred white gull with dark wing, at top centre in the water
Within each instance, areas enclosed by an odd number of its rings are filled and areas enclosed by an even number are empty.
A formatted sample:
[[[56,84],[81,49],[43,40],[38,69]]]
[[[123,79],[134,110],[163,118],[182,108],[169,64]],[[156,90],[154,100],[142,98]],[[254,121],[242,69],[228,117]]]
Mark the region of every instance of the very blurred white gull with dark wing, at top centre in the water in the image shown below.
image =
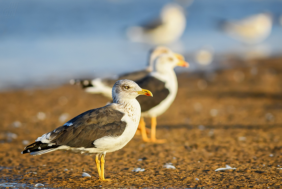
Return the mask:
[[[186,28],[184,10],[177,4],[163,7],[160,19],[146,26],[132,26],[126,30],[132,42],[170,44],[178,41]]]

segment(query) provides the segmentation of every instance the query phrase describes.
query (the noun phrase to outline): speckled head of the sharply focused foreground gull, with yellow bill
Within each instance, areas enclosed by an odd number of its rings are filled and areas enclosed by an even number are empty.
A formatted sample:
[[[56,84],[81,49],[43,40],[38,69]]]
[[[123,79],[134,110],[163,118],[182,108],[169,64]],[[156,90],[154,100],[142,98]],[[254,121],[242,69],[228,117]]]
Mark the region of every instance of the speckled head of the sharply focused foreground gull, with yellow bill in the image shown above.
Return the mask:
[[[135,99],[139,95],[153,96],[150,90],[142,89],[132,80],[119,80],[115,82],[112,89],[112,96],[115,101]]]

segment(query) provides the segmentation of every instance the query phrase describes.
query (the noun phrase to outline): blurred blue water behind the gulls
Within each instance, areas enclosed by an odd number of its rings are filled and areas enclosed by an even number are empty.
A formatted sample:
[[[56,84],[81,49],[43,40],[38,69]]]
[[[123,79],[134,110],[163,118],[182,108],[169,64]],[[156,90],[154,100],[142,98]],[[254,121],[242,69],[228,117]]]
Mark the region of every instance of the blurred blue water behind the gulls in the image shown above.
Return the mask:
[[[171,1],[2,0],[0,12],[10,2],[18,7],[14,19],[0,15],[0,89],[144,68],[151,46],[129,42],[125,28],[157,18]],[[218,23],[261,12],[274,17],[273,31],[263,44],[272,54],[282,53],[281,0],[197,0],[185,9],[181,53],[204,45],[212,45],[216,53],[240,50],[240,42],[220,31]]]

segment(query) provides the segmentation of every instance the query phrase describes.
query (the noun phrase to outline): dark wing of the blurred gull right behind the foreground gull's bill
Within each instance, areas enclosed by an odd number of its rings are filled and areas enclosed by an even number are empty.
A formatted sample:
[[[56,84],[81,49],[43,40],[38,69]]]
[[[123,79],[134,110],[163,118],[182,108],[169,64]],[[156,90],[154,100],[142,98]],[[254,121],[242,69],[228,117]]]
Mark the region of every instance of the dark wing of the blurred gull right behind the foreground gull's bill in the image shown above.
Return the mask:
[[[148,89],[153,93],[152,98],[140,95],[136,99],[140,103],[141,112],[145,112],[161,103],[169,95],[165,83],[153,76],[147,76],[136,82],[141,88]],[[145,98],[144,98],[145,97]]]

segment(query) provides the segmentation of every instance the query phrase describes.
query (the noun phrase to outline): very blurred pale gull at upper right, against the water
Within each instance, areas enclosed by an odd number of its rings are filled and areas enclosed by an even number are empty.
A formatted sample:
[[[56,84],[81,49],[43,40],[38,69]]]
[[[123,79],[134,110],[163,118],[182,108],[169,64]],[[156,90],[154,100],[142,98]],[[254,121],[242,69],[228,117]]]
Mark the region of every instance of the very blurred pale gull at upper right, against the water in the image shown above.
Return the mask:
[[[246,44],[257,44],[264,41],[271,33],[272,16],[260,13],[243,20],[224,23],[224,31],[232,38]]]

